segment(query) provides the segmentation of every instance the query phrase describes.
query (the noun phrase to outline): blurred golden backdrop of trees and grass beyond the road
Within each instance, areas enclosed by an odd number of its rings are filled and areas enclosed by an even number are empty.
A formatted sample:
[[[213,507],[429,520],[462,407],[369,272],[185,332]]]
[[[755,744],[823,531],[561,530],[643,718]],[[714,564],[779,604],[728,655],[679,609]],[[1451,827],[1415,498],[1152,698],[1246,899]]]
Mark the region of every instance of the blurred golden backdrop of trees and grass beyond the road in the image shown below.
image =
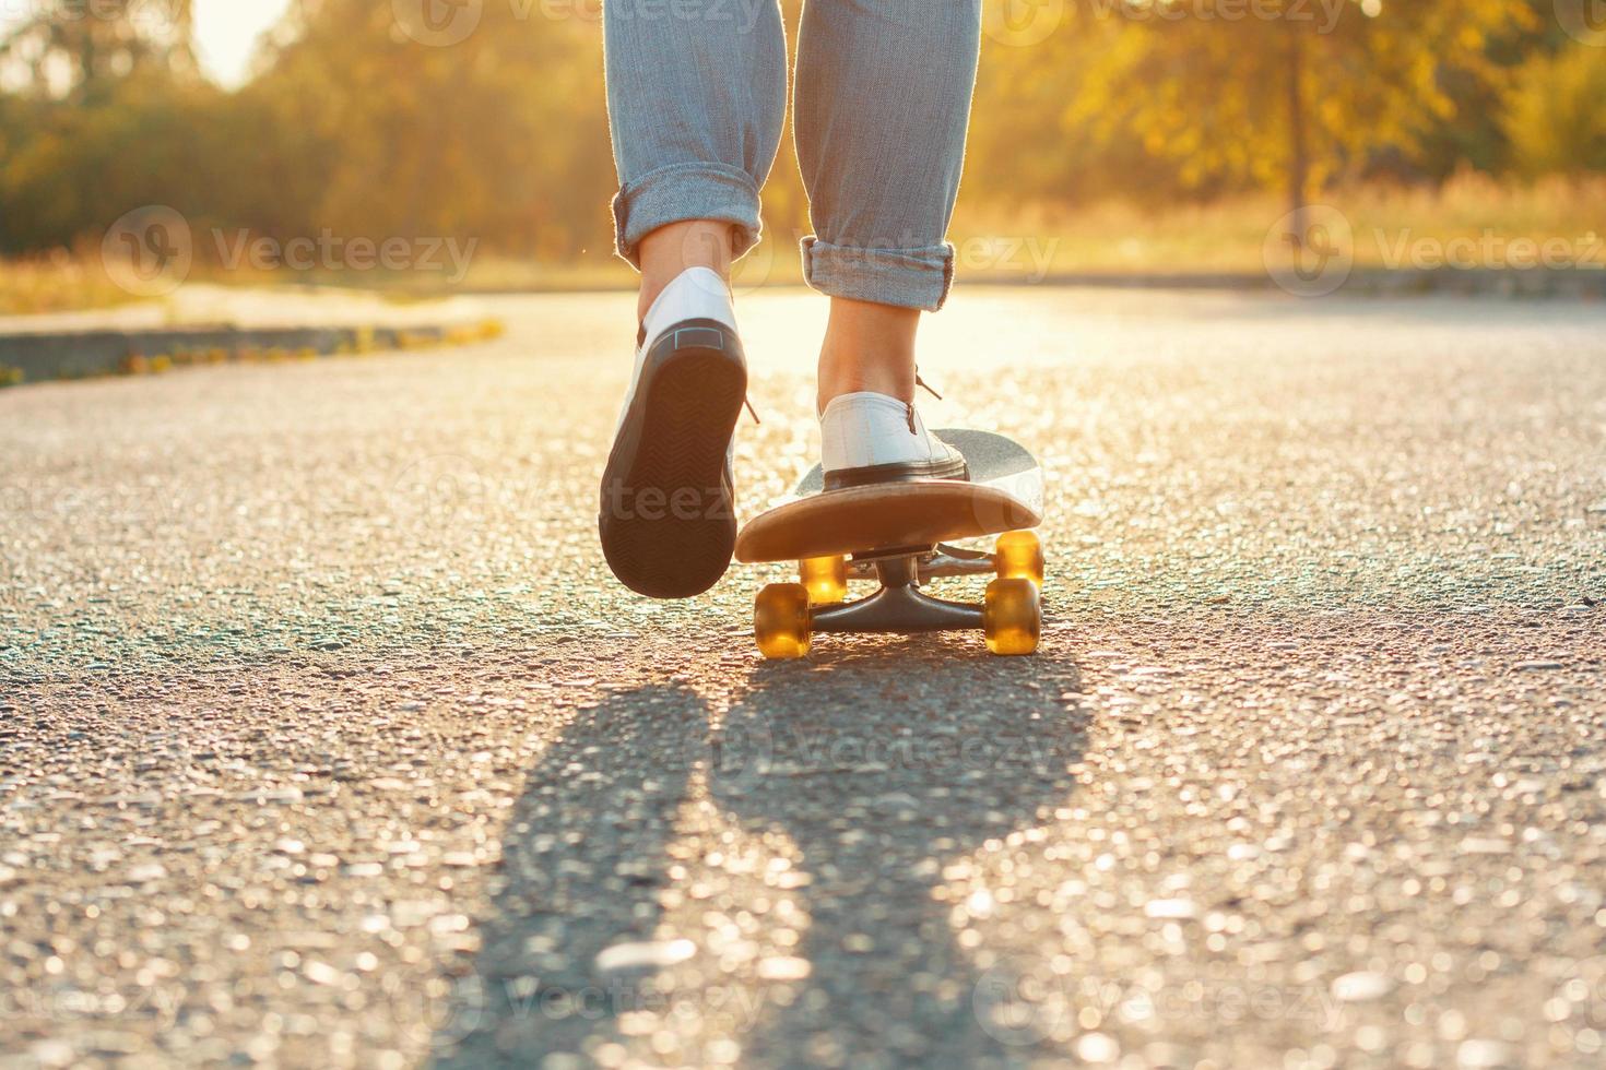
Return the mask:
[[[755,0],[724,2],[740,16]],[[784,6],[795,27],[801,5]],[[1402,237],[1490,231],[1606,263],[1590,242],[1606,231],[1600,8],[988,0],[960,270],[1254,271],[1267,229],[1304,204],[1343,213],[1360,265],[1392,266]],[[217,281],[263,281],[226,263],[238,234],[334,233],[474,255],[463,273],[291,278],[628,286],[613,188],[601,0],[0,6],[0,311],[125,300],[101,242],[149,205],[190,223],[193,271]],[[790,140],[766,215],[750,268],[795,281],[809,226]]]

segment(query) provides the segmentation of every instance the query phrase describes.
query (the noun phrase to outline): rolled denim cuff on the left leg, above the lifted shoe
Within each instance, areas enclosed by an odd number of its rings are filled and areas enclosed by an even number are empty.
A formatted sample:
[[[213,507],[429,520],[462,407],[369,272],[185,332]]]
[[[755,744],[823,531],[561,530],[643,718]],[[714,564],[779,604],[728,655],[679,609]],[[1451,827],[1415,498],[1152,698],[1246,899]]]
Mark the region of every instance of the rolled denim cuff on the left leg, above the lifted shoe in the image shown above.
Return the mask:
[[[613,247],[641,268],[641,239],[670,223],[719,220],[736,226],[736,255],[758,244],[758,186],[736,167],[671,164],[644,175],[613,197]]]

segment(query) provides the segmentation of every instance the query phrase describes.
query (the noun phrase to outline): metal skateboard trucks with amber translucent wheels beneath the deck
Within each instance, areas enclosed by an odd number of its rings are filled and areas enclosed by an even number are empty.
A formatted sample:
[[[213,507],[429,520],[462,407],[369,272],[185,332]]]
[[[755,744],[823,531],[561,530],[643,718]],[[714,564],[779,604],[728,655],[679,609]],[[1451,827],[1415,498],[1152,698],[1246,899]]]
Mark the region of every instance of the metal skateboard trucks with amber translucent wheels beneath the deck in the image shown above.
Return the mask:
[[[996,655],[1029,655],[1042,632],[1042,547],[1031,531],[999,537],[994,553],[938,544],[872,553],[809,558],[803,582],[758,592],[753,630],[766,658],[801,658],[814,632],[956,632],[980,629]],[[920,590],[940,576],[996,573],[981,605]],[[850,579],[875,579],[880,590],[846,602]]]

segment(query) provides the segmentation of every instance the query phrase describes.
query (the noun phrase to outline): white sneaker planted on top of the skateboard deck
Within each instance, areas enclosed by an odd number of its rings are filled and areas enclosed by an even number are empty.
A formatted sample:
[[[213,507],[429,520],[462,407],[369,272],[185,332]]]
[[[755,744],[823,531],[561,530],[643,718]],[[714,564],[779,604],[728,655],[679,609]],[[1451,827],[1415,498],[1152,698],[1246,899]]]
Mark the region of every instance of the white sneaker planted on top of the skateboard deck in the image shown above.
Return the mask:
[[[890,395],[846,393],[819,415],[825,489],[912,480],[965,480],[965,459],[925,430],[912,403]]]

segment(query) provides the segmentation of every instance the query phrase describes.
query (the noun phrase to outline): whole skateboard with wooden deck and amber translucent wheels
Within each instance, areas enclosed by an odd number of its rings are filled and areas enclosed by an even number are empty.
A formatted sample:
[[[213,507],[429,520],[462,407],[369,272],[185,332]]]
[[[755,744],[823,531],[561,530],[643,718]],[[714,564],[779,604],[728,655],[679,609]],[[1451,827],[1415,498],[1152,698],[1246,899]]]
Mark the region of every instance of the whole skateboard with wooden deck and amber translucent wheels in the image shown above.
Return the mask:
[[[980,629],[994,655],[1029,655],[1042,635],[1042,468],[1025,448],[988,432],[940,430],[970,480],[878,483],[825,491],[816,465],[792,497],[750,520],[736,560],[798,561],[795,584],[769,584],[753,605],[766,658],[803,658],[819,632]],[[954,545],[997,536],[993,552]],[[981,605],[920,590],[940,576],[996,574]],[[878,581],[848,600],[850,581]]]

